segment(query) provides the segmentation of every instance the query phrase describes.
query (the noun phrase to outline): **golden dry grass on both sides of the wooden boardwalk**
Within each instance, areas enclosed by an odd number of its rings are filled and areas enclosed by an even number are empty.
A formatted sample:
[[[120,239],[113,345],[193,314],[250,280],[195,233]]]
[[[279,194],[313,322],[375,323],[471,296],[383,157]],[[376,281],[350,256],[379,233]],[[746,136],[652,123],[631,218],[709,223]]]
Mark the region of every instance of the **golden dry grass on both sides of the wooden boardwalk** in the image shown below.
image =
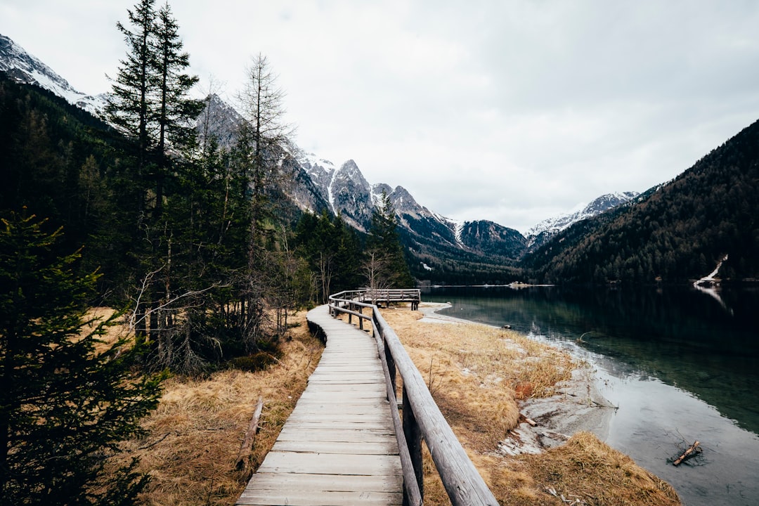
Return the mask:
[[[401,308],[383,315],[501,504],[679,504],[666,482],[587,432],[541,454],[499,452],[499,441],[518,424],[521,399],[553,394],[556,382],[571,376],[577,364],[568,355],[485,325],[423,322],[420,313]],[[249,477],[235,460],[257,398],[264,409],[253,467],[319,360],[322,347],[308,335],[305,314],[296,321],[301,325],[283,343],[281,359],[265,371],[168,380],[145,422],[150,435],[125,447],[124,457],[139,456],[140,469],[153,478],[143,504],[235,503]],[[449,504],[429,455],[425,467],[425,504]]]

